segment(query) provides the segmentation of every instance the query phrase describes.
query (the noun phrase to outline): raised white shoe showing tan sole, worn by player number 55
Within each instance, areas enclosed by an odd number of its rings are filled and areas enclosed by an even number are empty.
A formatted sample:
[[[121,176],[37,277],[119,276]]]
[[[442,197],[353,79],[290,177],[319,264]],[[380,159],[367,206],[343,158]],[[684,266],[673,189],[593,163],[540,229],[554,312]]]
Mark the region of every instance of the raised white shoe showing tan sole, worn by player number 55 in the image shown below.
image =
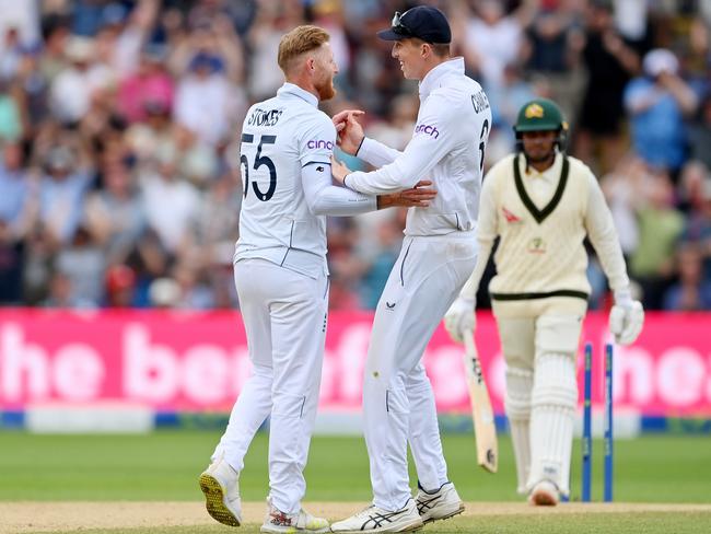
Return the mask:
[[[200,489],[205,494],[205,507],[215,521],[240,526],[240,474],[224,460],[224,453],[200,475]]]

